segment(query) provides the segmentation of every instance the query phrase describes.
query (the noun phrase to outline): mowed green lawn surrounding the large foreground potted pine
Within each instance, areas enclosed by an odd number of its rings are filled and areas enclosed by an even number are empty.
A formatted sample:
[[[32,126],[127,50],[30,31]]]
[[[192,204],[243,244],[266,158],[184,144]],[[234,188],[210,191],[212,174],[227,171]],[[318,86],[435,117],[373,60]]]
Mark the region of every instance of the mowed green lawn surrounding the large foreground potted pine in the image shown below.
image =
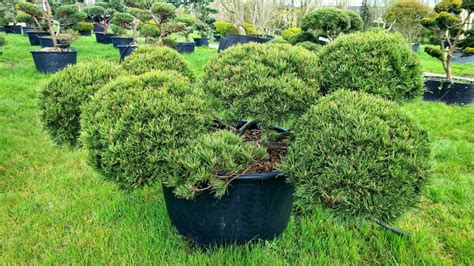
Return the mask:
[[[5,35],[3,35],[5,36]],[[474,261],[474,107],[415,101],[403,106],[432,138],[432,182],[420,208],[394,225],[341,225],[320,210],[292,217],[278,239],[203,250],[173,229],[159,186],[132,193],[103,181],[85,152],[54,146],[38,120],[28,40],[0,48],[0,264],[472,264]],[[79,62],[118,61],[93,37],[74,44]],[[199,75],[212,49],[186,58]]]

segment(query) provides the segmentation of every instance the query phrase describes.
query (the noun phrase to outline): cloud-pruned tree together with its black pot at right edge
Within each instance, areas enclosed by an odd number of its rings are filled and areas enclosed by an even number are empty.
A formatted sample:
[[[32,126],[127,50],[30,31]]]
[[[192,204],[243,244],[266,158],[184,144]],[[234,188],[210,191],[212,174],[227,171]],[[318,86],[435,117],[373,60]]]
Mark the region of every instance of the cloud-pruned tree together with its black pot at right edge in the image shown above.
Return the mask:
[[[461,14],[464,12],[464,18]],[[438,48],[425,47],[425,52],[441,61],[445,79],[427,77],[427,91],[423,99],[443,101],[448,104],[471,104],[474,102],[474,83],[454,80],[452,75],[452,59],[459,48],[463,30],[470,23],[474,12],[474,1],[443,0],[434,7],[434,14],[422,20],[425,27],[435,31],[441,43]]]

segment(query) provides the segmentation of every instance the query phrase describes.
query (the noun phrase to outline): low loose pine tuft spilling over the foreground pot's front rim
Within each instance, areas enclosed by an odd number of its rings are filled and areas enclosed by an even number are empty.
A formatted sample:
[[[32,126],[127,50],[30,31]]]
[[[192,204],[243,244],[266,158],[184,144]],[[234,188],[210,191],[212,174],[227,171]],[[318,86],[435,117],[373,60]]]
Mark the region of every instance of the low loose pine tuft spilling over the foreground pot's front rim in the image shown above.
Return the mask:
[[[230,131],[211,132],[195,137],[173,154],[169,171],[162,180],[173,187],[180,198],[192,199],[203,191],[203,187],[220,198],[233,177],[266,154],[265,149],[254,143],[244,143],[241,136]]]

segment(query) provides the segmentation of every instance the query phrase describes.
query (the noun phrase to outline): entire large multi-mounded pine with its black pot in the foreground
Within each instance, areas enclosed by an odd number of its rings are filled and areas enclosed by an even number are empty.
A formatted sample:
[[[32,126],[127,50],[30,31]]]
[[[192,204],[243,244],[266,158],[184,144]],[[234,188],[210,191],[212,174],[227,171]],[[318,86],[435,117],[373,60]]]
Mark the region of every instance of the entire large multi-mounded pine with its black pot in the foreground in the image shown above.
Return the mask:
[[[345,221],[391,222],[427,181],[428,136],[392,102],[423,93],[418,58],[399,35],[347,35],[318,55],[239,45],[197,82],[169,48],[110,64],[51,77],[45,129],[82,145],[123,189],[161,183],[171,222],[199,244],[272,239],[293,205],[299,215],[323,206]]]

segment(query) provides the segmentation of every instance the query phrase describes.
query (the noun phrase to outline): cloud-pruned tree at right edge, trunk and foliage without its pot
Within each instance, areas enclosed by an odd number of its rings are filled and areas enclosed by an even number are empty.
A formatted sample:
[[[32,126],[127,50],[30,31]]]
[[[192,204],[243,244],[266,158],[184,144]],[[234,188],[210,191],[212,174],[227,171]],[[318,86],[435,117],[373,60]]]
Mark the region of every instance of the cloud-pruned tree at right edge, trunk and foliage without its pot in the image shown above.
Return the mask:
[[[460,14],[465,11],[464,19]],[[443,64],[446,79],[452,80],[451,59],[458,48],[463,29],[474,12],[473,0],[443,0],[436,4],[434,15],[422,20],[423,26],[435,31],[441,39],[439,48],[426,47],[425,52]]]

